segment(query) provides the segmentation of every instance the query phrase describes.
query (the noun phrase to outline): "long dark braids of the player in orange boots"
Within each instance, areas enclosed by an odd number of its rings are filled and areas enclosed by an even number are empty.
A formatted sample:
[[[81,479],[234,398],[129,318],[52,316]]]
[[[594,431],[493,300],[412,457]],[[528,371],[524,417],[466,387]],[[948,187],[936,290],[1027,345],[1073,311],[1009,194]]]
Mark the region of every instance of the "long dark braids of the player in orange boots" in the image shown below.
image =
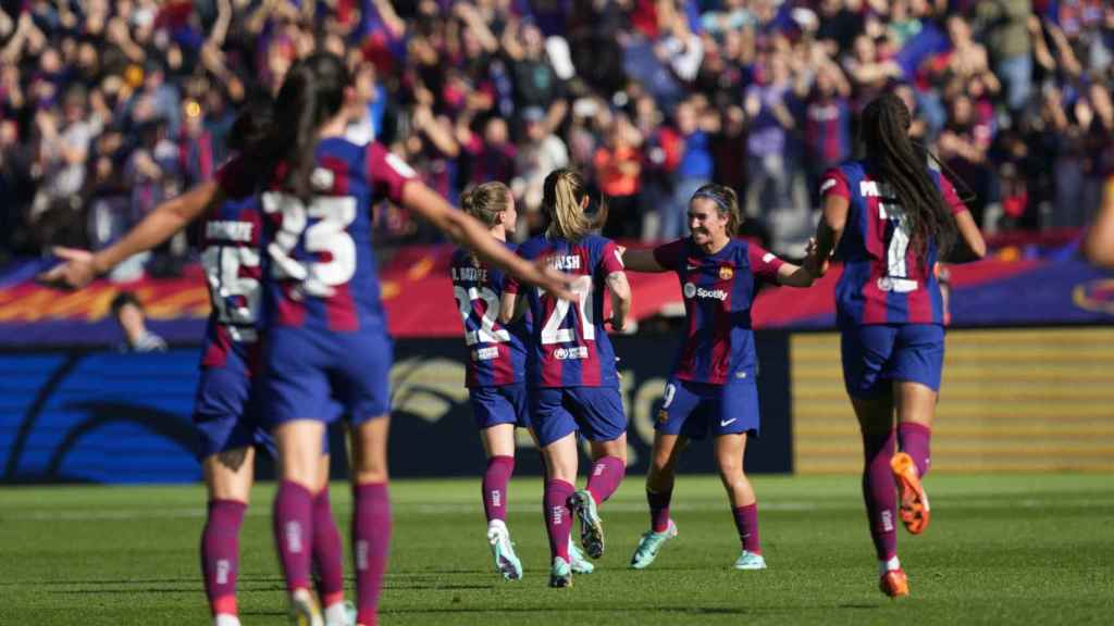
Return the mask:
[[[925,154],[909,139],[911,117],[901,98],[883,94],[862,110],[861,135],[879,182],[889,185],[897,196],[893,202],[905,209],[913,250],[926,263],[928,242],[935,239],[940,256],[945,256],[955,244],[956,225],[928,173]]]

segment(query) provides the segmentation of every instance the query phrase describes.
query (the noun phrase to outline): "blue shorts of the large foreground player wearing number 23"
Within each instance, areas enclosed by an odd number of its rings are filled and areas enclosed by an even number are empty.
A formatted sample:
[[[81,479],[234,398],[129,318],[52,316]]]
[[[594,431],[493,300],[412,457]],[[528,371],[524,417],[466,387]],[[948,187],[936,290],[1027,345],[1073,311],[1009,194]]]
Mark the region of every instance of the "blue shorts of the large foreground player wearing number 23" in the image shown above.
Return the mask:
[[[332,422],[338,413],[353,424],[385,415],[392,353],[391,339],[379,330],[330,334],[271,330],[263,350],[267,427],[292,420]]]

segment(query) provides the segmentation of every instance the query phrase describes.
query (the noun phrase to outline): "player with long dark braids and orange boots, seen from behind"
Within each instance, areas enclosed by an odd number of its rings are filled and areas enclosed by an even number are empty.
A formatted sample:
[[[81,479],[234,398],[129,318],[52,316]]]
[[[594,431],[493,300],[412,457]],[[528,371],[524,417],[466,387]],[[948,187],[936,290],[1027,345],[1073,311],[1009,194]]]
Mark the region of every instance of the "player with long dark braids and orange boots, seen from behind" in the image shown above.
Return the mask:
[[[957,233],[968,257],[986,254],[974,218],[951,183],[928,167],[909,125],[909,109],[897,96],[880,96],[863,109],[866,158],[821,180],[814,258],[822,261],[813,270],[822,273],[831,253],[844,264],[836,287],[843,380],[862,432],[862,493],[880,588],[891,597],[909,595],[893,518],[900,515],[912,535],[929,521],[921,480],[944,365],[944,307],[932,267]]]

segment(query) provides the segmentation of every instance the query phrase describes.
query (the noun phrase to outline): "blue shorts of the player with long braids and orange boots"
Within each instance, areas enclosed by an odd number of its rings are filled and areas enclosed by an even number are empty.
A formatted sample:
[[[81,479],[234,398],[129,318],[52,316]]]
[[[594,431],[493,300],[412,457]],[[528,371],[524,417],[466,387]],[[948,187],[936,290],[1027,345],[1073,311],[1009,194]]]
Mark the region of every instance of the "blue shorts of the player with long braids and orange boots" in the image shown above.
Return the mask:
[[[940,390],[944,326],[869,324],[840,332],[843,383],[852,398],[871,398],[890,381],[918,382]]]

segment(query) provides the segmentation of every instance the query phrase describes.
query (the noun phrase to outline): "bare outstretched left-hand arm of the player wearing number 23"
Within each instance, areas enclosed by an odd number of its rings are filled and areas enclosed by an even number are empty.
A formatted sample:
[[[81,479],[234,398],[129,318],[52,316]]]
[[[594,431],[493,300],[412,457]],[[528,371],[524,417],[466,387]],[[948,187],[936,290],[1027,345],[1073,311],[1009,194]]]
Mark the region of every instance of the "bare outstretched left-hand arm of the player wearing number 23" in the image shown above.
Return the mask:
[[[55,254],[65,263],[39,274],[38,280],[57,288],[81,288],[125,258],[162,244],[205,213],[206,208],[222,202],[224,192],[216,182],[198,185],[155,207],[123,238],[96,254],[84,250],[55,248]]]

